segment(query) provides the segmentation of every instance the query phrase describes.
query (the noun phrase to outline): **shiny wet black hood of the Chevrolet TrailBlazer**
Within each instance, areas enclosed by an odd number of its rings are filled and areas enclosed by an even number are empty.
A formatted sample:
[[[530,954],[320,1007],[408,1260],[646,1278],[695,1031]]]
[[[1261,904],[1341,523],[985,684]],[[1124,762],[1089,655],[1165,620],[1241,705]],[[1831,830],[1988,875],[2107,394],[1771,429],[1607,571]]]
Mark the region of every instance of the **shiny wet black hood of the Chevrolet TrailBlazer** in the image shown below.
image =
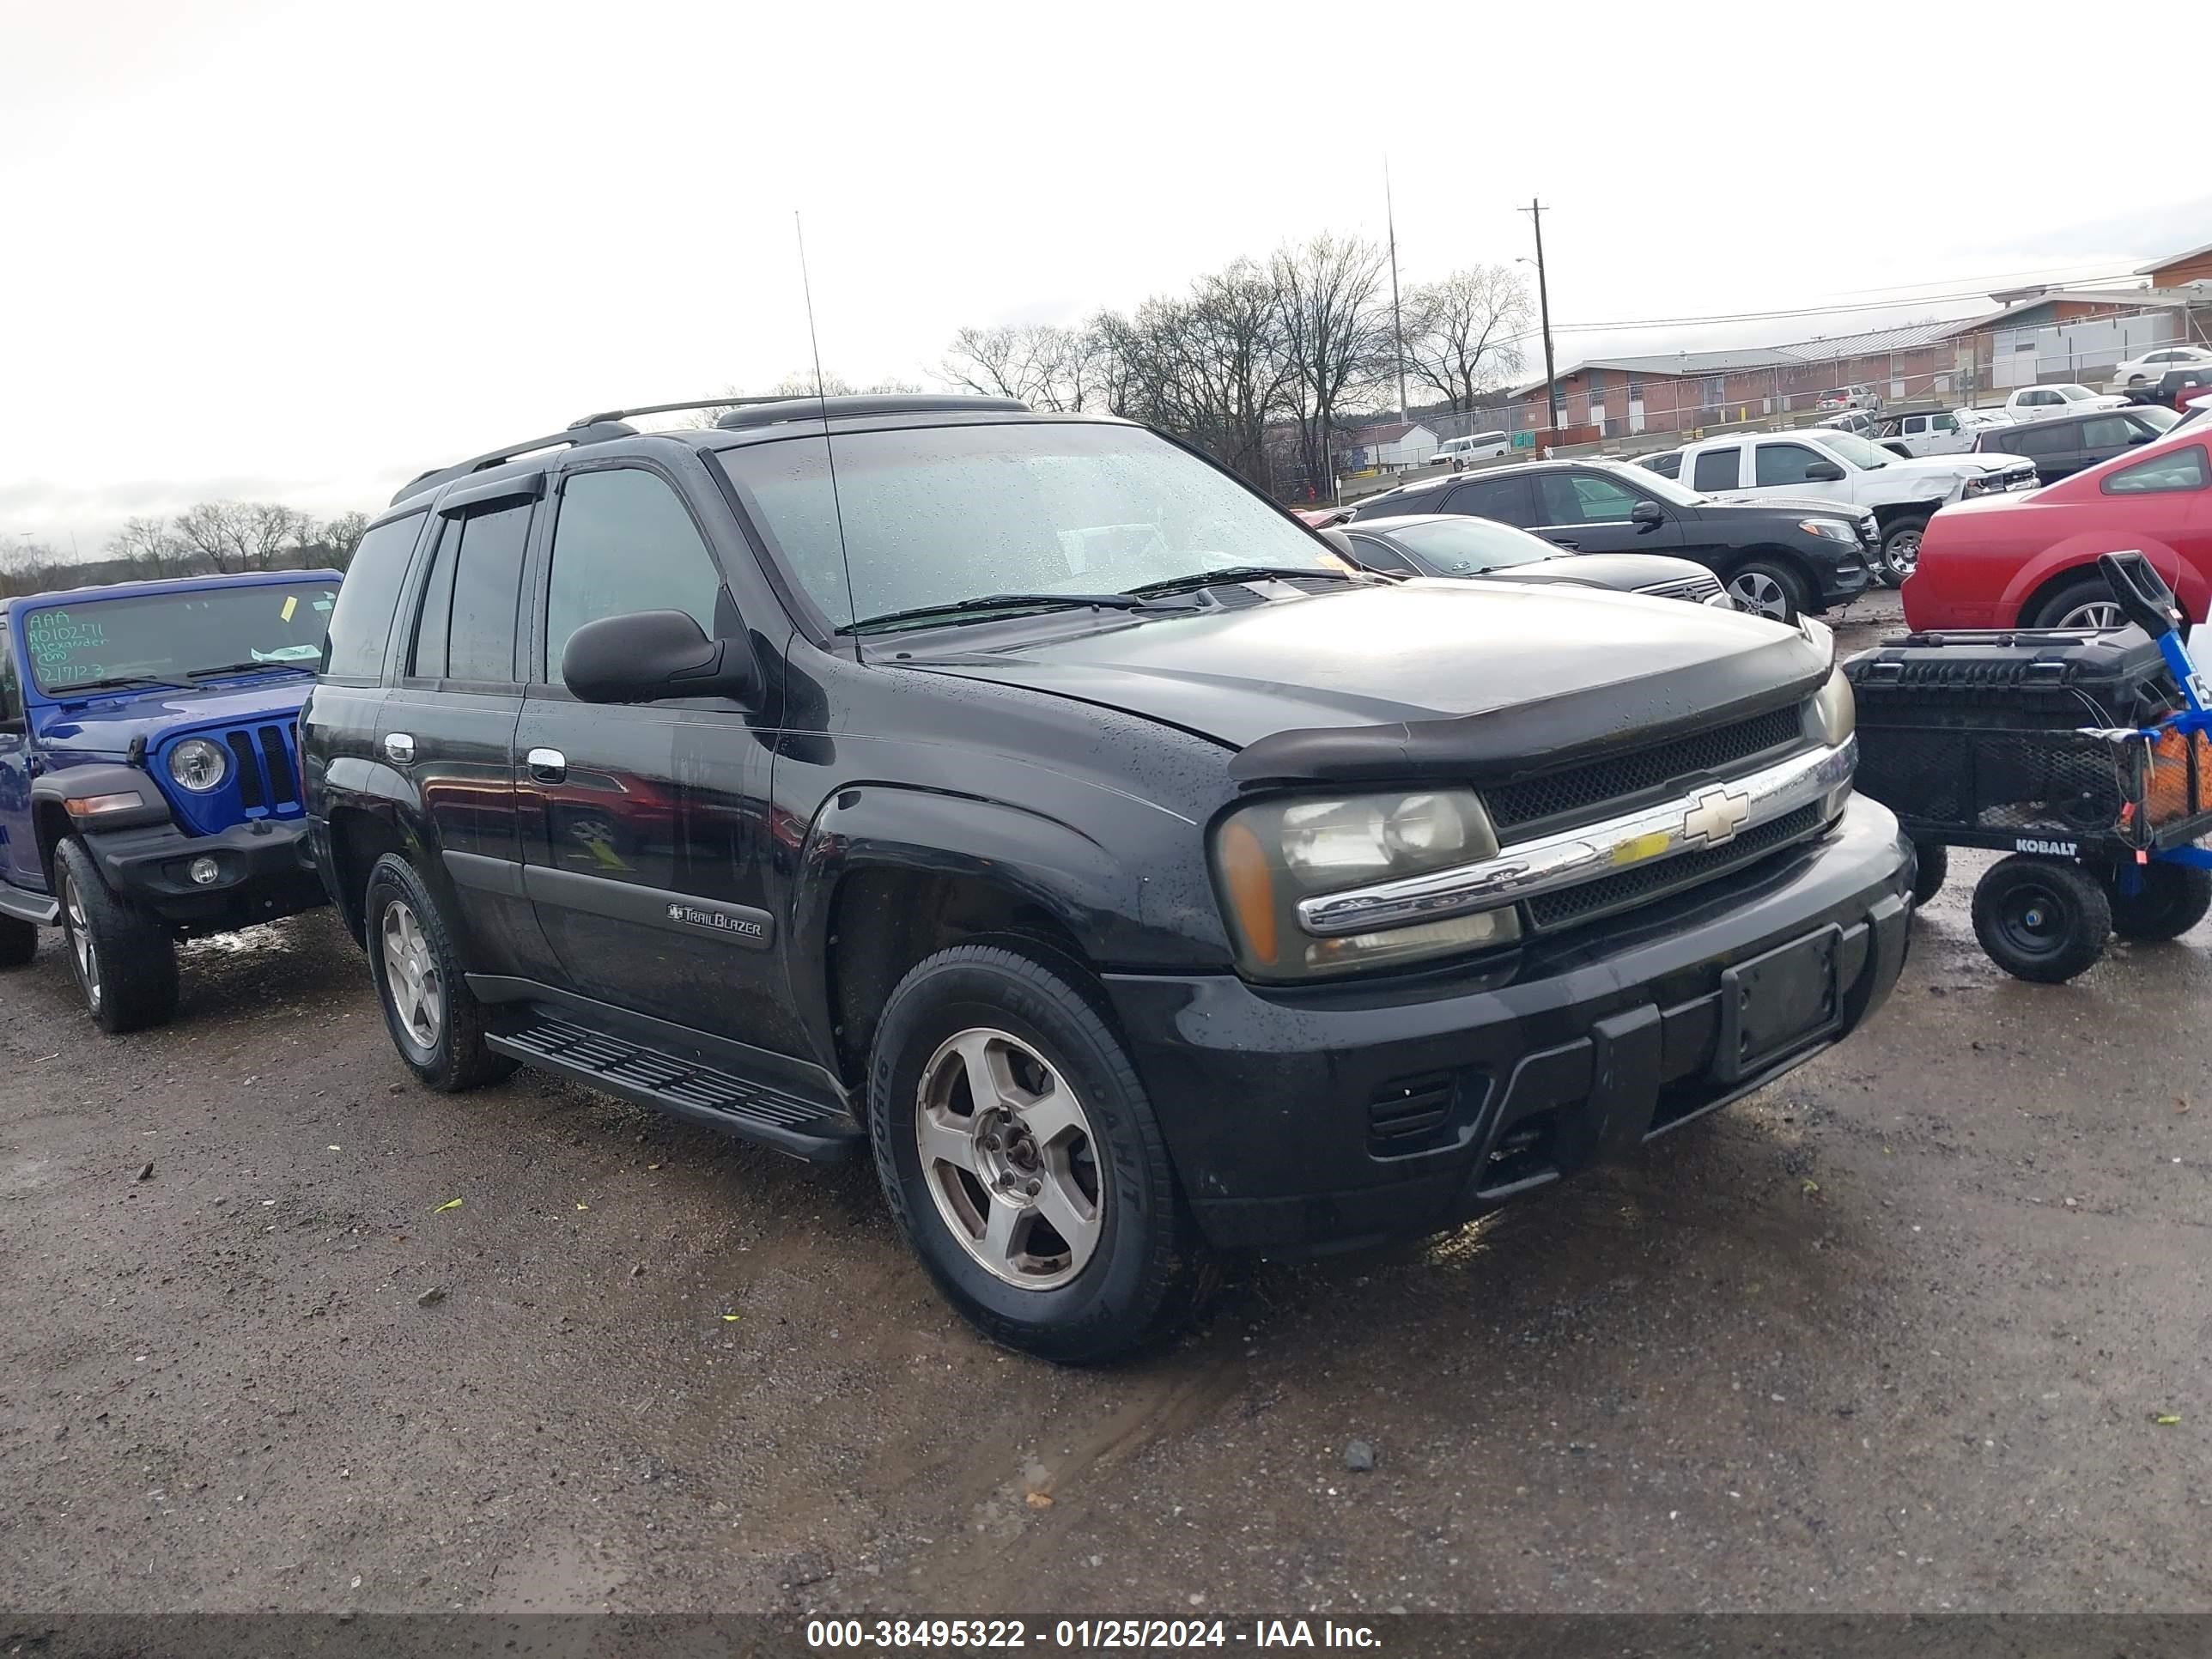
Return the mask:
[[[905,646],[914,650],[914,646]],[[1825,637],[1639,595],[1418,580],[922,659],[1245,750],[1263,779],[1513,776],[1812,695]]]

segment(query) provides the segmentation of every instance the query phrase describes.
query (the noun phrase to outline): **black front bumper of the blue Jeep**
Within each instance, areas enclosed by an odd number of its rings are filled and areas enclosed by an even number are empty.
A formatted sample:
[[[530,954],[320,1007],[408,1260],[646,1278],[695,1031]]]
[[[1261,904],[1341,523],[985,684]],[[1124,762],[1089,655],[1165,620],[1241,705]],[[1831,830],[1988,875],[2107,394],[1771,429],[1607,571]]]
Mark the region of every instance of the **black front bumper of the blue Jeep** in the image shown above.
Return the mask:
[[[184,933],[228,933],[327,902],[307,856],[307,823],[241,823],[188,836],[173,823],[84,836],[108,889]],[[192,860],[215,858],[215,880],[195,883]]]

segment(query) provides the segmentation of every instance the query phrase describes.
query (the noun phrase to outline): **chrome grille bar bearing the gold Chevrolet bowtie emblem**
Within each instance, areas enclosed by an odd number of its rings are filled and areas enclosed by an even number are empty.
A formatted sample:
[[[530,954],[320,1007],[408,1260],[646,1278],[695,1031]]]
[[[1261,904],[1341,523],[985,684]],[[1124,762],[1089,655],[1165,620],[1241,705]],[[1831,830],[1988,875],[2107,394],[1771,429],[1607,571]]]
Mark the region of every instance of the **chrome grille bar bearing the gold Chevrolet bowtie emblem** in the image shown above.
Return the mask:
[[[1710,783],[1641,812],[1524,841],[1473,865],[1301,898],[1298,927],[1314,938],[1343,938],[1409,922],[1436,922],[1575,887],[1619,869],[1641,869],[1677,854],[1725,847],[1745,830],[1783,818],[1849,783],[1856,765],[1858,739],[1847,737],[1836,748],[1805,750],[1747,776]]]

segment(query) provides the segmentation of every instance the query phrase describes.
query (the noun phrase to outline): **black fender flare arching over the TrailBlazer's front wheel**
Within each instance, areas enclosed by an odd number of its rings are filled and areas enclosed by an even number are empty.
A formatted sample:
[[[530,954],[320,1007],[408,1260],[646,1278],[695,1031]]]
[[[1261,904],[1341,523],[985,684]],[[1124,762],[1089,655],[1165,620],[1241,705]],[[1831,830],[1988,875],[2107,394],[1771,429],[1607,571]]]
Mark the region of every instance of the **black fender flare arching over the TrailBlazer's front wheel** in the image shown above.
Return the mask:
[[[1031,807],[907,783],[854,783],[814,814],[799,849],[785,967],[818,1053],[836,1053],[830,929],[847,876],[905,869],[971,876],[1060,922],[1091,960],[1108,960],[1113,922],[1137,918],[1141,883],[1106,845]]]

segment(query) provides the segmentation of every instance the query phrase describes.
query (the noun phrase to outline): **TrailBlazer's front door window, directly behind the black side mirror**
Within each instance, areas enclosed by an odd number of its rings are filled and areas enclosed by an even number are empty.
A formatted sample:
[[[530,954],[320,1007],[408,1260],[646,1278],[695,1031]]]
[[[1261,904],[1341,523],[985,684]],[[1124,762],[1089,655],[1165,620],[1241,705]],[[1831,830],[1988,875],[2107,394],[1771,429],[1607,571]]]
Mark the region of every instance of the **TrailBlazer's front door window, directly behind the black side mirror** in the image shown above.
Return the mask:
[[[560,675],[568,635],[599,617],[684,611],[710,637],[721,613],[721,573],[668,480],[622,467],[571,473],[553,520],[546,586],[546,666]]]

